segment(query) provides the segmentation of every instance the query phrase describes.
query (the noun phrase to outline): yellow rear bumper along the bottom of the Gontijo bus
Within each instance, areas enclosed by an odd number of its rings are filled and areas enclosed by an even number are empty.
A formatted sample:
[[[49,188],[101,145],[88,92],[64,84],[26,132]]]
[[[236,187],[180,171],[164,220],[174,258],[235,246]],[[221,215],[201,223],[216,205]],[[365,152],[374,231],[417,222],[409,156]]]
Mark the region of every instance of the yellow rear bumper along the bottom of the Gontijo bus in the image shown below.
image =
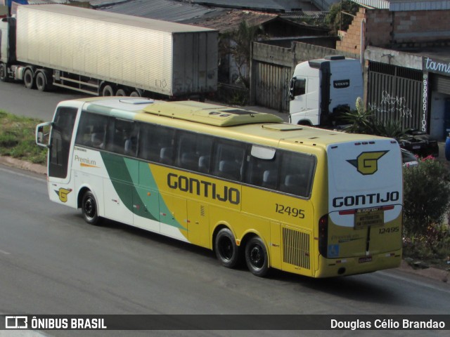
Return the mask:
[[[319,269],[314,277],[338,277],[377,270],[399,267],[401,263],[401,249],[388,253],[352,258],[324,258],[319,256]]]

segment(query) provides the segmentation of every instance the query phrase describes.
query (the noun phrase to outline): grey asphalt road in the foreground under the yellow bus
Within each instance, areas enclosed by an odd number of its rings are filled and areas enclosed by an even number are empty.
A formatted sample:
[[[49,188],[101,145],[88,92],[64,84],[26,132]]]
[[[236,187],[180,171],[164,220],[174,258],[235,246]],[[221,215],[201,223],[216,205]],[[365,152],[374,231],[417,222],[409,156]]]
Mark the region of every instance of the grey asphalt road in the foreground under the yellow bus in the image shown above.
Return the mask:
[[[103,227],[87,225],[79,211],[49,201],[42,176],[0,166],[0,186],[0,313],[381,315],[450,311],[448,284],[401,270],[340,279],[276,272],[261,279],[246,270],[219,266],[210,251],[157,234],[114,222]],[[292,336],[298,336],[294,332]],[[310,332],[309,336],[321,336],[319,331]],[[369,336],[377,336],[375,332]],[[404,336],[405,331],[391,332]],[[409,336],[445,336],[419,332],[411,331]],[[276,331],[252,333],[247,331],[245,336],[279,335]],[[51,331],[53,335],[71,336],[69,331]],[[211,333],[203,331],[203,336]]]

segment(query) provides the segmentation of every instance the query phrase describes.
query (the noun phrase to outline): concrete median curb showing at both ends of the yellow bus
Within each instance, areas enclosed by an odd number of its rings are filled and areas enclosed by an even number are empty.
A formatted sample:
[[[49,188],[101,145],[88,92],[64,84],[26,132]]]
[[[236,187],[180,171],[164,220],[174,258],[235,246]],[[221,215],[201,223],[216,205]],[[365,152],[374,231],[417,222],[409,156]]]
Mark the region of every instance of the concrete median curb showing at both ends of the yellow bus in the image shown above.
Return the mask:
[[[2,157],[0,156],[0,164],[4,164],[6,166],[15,167],[18,169],[23,169],[27,171],[32,171],[34,173],[46,175],[47,167],[39,164],[32,164],[28,161],[23,161],[20,159],[15,159],[11,157]],[[442,270],[438,268],[425,268],[425,269],[414,269],[405,260],[401,261],[401,265],[398,268],[401,271],[409,272],[414,275],[419,275],[423,277],[428,277],[430,279],[435,279],[440,282],[449,283],[450,280],[450,272],[447,270]]]

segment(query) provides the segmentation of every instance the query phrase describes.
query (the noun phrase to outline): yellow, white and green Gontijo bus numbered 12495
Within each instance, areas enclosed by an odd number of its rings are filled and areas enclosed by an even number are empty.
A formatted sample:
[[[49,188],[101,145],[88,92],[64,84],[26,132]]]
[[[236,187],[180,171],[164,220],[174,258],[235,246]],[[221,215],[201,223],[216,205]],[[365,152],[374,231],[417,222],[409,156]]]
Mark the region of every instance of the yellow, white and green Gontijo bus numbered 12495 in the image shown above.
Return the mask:
[[[49,135],[46,137],[45,135]],[[401,261],[398,143],[193,101],[87,98],[39,124],[51,201],[245,261],[335,277]]]

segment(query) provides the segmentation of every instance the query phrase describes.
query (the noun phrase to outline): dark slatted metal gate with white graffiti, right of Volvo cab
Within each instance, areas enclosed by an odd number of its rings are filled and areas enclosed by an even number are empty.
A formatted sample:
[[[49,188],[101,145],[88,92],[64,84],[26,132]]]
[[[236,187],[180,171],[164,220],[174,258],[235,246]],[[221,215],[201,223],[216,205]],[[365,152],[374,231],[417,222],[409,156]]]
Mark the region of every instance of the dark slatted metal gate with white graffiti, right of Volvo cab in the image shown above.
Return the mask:
[[[420,129],[422,81],[420,70],[369,62],[367,109],[380,121],[401,121],[404,129]]]

